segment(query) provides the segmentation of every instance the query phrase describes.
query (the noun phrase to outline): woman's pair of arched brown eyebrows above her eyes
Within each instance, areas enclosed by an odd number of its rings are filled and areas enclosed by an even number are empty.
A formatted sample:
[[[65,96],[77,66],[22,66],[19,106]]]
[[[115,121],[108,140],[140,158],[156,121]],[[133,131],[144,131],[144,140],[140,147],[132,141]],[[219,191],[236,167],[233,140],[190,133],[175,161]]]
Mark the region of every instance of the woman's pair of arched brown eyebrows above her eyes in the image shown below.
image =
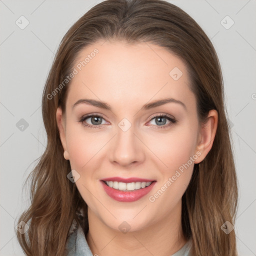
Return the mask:
[[[178,104],[182,105],[185,108],[185,110],[187,110],[186,105],[182,101],[174,99],[174,98],[163,98],[163,99],[155,100],[155,101],[152,101],[150,103],[144,104],[141,109],[142,110],[148,110],[148,109],[151,109],[153,107],[160,106],[160,105],[163,105],[163,104],[166,104],[166,103],[169,103],[169,102],[178,103]],[[95,100],[95,99],[89,99],[89,98],[81,98],[81,99],[77,100],[72,105],[72,109],[76,105],[81,104],[81,103],[97,106],[97,107],[112,111],[111,107],[106,102],[98,101],[98,100]]]

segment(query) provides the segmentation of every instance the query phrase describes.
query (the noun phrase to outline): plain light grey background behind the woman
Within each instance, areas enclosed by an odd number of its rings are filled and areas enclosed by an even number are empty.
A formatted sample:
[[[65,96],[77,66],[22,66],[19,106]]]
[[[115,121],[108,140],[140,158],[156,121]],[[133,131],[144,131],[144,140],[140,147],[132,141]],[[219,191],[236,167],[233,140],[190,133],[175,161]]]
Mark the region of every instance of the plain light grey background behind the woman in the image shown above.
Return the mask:
[[[0,0],[0,255],[24,255],[14,228],[28,206],[22,184],[45,149],[41,95],[67,29],[101,0]],[[224,77],[239,182],[235,223],[239,255],[256,255],[256,2],[172,0],[211,39]],[[23,15],[29,24],[21,29]],[[226,17],[226,16],[229,17]],[[221,21],[222,20],[222,21]],[[232,20],[234,24],[232,24]],[[224,27],[225,26],[225,27]],[[229,27],[228,29],[226,29]],[[23,131],[17,126],[24,119]],[[16,123],[19,125],[16,126]]]

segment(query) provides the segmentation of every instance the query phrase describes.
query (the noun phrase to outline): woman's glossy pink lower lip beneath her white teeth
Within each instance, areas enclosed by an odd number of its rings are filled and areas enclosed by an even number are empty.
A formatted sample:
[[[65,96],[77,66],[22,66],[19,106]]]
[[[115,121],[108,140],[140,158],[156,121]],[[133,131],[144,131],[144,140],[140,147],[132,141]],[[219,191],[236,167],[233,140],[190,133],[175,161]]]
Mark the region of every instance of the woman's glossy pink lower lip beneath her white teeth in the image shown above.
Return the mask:
[[[154,186],[154,183],[156,181],[153,181],[149,186],[146,186],[144,188],[130,190],[130,191],[121,191],[118,189],[114,189],[104,183],[104,181],[100,180],[100,182],[103,185],[103,188],[105,192],[114,200],[120,201],[120,202],[133,202],[144,195],[146,195]]]

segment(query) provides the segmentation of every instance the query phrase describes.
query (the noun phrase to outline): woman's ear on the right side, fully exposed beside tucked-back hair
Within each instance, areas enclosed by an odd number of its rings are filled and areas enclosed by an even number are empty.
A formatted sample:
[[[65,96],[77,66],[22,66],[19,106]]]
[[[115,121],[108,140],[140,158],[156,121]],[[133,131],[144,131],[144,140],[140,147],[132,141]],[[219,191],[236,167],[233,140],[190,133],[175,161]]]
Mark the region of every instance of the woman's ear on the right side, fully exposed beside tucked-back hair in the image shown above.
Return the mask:
[[[211,149],[217,130],[217,123],[218,112],[215,109],[211,109],[208,113],[206,123],[201,124],[200,127],[196,149],[200,151],[201,154],[194,163],[201,162]]]

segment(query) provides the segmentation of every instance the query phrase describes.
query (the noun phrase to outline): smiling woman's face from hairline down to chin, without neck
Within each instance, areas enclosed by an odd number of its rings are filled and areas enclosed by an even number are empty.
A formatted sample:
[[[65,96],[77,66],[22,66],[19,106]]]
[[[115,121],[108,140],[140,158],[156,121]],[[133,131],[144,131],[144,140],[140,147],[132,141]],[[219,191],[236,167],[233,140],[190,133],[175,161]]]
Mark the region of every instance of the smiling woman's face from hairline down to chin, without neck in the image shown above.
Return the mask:
[[[130,231],[180,215],[193,165],[202,160],[184,63],[154,44],[105,41],[83,49],[73,68],[60,133],[90,214],[116,230],[126,221]]]

